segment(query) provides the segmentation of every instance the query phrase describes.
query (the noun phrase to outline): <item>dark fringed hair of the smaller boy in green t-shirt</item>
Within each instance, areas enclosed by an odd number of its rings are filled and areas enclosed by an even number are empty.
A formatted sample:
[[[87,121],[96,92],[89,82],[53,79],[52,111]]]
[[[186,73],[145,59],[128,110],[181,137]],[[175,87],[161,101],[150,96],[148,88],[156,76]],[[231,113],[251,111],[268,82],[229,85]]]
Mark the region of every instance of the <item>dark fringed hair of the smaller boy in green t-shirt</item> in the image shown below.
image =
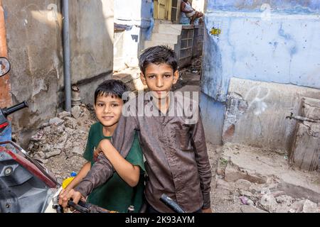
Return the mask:
[[[95,103],[97,101],[97,96],[111,96],[112,98],[116,97],[122,99],[124,92],[128,91],[129,88],[121,80],[108,79],[95,89]]]

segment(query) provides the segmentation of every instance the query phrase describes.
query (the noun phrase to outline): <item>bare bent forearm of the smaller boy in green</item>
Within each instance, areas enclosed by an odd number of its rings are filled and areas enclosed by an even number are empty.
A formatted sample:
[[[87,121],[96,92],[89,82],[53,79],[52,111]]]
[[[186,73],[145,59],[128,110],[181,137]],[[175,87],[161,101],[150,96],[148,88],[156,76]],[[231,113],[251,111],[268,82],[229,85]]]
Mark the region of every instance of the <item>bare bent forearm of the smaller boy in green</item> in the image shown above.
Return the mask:
[[[140,167],[138,165],[132,165],[132,163],[125,160],[114,148],[110,140],[101,140],[97,150],[100,150],[105,154],[114,167],[114,170],[130,187],[135,187],[138,184]]]

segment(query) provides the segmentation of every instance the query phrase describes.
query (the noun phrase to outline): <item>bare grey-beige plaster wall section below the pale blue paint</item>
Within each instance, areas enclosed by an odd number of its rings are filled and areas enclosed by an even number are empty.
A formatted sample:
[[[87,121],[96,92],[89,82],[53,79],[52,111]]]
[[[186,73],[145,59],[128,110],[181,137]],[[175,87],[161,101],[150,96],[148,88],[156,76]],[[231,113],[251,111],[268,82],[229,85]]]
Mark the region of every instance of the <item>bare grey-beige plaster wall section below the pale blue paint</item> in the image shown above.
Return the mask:
[[[230,79],[223,142],[289,150],[303,97],[320,98],[319,89],[292,84]]]

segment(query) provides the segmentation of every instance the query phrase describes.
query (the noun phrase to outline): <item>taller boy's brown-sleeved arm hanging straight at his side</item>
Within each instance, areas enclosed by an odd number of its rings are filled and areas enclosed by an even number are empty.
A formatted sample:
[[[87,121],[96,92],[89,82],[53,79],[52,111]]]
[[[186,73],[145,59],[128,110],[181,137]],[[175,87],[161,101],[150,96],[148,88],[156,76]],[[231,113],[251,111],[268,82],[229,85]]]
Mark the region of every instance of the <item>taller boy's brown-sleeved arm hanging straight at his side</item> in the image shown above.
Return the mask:
[[[203,194],[202,209],[210,209],[210,183],[212,174],[200,111],[198,112],[198,122],[192,128],[191,143],[195,149],[200,185]]]

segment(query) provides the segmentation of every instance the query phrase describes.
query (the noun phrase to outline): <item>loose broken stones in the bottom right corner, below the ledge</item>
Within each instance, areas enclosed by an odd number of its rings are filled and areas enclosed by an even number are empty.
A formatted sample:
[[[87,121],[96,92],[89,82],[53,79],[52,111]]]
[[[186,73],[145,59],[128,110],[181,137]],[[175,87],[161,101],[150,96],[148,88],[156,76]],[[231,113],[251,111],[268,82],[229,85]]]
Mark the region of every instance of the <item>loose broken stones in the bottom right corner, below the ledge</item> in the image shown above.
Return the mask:
[[[289,196],[278,190],[277,184],[217,179],[215,193],[220,194],[220,199],[237,204],[242,213],[320,213],[320,203]]]

